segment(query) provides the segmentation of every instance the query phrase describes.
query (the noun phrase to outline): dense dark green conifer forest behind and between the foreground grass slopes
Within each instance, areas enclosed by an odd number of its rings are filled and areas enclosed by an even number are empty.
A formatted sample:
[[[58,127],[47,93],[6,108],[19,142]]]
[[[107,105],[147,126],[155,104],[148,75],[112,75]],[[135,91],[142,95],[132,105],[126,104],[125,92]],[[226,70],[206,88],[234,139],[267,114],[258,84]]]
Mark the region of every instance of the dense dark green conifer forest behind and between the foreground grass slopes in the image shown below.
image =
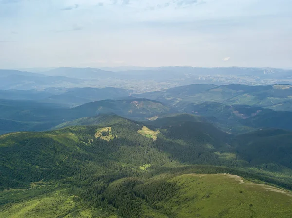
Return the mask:
[[[140,123],[113,123],[112,140],[96,138],[97,126],[0,138],[1,190],[56,182],[70,187],[69,192],[79,189],[88,207],[127,218],[139,217],[143,202],[171,217],[159,202],[177,194],[179,186],[169,179],[184,173],[230,173],[292,190],[289,176],[248,172],[247,166],[253,165],[238,157],[236,147],[226,145],[227,134],[209,124],[167,127],[154,141],[137,132]],[[141,169],[145,164],[149,167]]]

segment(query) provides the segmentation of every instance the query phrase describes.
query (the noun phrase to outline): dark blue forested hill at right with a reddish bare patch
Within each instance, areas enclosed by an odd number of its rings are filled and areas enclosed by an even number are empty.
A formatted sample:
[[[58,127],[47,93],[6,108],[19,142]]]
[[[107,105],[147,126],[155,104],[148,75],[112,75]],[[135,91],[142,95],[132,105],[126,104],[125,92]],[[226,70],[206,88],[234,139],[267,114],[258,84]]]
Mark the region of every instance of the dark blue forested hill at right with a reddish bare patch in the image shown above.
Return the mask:
[[[232,133],[259,128],[292,130],[292,112],[274,111],[249,105],[226,105],[218,102],[188,104],[182,112],[204,116],[206,120]]]

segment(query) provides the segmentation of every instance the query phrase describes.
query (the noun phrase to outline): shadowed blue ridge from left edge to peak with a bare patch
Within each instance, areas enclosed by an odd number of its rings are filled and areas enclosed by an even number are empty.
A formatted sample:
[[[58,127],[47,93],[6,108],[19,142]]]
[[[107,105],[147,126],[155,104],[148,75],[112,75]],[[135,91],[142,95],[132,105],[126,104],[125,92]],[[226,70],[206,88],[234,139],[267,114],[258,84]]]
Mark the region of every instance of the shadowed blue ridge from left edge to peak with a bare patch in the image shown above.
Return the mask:
[[[0,128],[0,134],[49,130],[62,123],[64,124],[61,126],[66,126],[66,123],[73,120],[104,113],[115,113],[135,120],[148,120],[171,112],[169,106],[147,99],[102,100],[75,108],[64,108],[52,103],[35,101],[0,100],[0,110],[0,120],[7,124]]]

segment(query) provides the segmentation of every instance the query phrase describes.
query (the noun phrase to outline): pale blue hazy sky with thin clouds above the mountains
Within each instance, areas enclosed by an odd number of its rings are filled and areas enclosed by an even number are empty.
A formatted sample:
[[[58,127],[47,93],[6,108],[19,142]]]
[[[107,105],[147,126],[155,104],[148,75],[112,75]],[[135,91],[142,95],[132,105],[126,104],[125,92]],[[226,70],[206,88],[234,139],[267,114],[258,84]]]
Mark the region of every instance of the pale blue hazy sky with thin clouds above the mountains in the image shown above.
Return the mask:
[[[0,0],[0,68],[292,68],[292,0]]]

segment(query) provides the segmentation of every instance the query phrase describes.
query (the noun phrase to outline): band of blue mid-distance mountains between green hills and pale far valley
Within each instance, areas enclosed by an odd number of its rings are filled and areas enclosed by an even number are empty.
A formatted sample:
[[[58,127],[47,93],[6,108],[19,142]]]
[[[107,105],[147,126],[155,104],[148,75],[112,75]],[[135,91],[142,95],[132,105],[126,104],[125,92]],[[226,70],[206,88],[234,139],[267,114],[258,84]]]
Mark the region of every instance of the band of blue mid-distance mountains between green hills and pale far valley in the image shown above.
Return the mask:
[[[187,113],[231,133],[260,128],[292,130],[291,87],[193,84],[139,95],[117,88],[6,90],[0,91],[5,98],[0,99],[0,133],[44,131],[103,113],[139,121]],[[110,99],[102,100],[106,98]]]

